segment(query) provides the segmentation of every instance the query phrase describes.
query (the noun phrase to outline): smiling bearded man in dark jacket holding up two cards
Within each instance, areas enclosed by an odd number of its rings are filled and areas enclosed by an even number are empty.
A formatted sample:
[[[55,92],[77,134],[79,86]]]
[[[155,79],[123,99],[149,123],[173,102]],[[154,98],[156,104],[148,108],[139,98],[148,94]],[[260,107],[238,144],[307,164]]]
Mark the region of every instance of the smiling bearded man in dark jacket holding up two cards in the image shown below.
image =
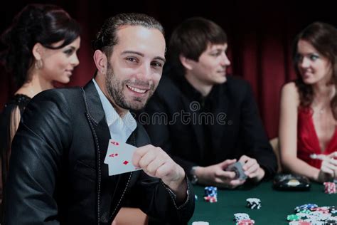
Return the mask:
[[[150,216],[186,224],[194,194],[183,168],[149,145],[129,112],[144,107],[161,78],[161,24],[119,14],[93,46],[95,79],[48,90],[27,106],[12,146],[4,224],[111,224],[127,197]],[[138,147],[132,162],[142,170],[109,176],[110,138]]]

